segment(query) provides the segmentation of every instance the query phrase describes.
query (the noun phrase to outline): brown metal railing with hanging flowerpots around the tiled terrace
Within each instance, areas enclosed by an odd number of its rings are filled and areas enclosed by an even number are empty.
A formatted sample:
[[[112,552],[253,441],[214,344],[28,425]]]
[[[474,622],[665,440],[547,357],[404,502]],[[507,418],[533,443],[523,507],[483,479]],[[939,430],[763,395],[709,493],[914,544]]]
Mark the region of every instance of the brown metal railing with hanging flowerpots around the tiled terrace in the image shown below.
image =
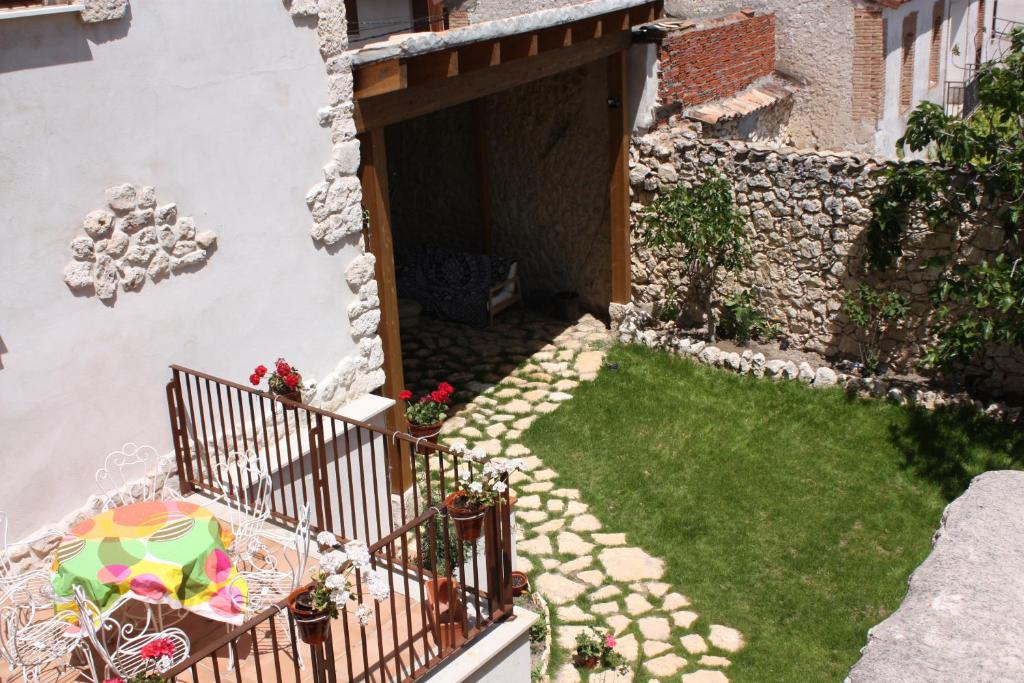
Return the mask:
[[[183,495],[222,496],[213,475],[218,463],[255,452],[271,475],[275,521],[294,525],[308,502],[314,531],[366,542],[375,571],[387,578],[391,597],[377,604],[372,623],[386,628],[339,620],[332,652],[322,652],[330,663],[322,657],[317,676],[333,681],[337,664],[348,680],[415,680],[511,614],[508,492],[503,505],[487,510],[479,541],[459,540],[444,507],[465,464],[458,454],[194,370],[171,370],[167,400]],[[361,597],[365,590],[356,572],[353,592]],[[248,638],[252,628],[231,637]],[[264,671],[260,680],[292,680],[283,675]]]

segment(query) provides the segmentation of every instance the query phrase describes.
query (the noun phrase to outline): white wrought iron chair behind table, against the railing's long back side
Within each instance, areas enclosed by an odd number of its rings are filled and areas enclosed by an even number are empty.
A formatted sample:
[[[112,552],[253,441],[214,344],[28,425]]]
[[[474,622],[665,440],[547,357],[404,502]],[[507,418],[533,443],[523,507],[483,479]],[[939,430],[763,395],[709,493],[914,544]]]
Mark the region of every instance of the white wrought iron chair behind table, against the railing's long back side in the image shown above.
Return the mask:
[[[214,499],[230,511],[226,520],[234,540],[227,554],[236,567],[258,563],[258,556],[269,554],[260,533],[270,517],[272,482],[259,456],[252,451],[231,453],[213,468],[214,484],[220,492]]]

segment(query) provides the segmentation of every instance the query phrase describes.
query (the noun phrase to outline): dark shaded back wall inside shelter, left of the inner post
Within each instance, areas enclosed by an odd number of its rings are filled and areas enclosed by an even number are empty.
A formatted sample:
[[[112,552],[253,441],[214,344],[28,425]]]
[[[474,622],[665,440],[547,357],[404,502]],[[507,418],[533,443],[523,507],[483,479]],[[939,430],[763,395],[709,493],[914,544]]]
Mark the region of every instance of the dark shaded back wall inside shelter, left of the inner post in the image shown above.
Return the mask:
[[[423,246],[483,251],[473,103],[387,129],[395,260]]]

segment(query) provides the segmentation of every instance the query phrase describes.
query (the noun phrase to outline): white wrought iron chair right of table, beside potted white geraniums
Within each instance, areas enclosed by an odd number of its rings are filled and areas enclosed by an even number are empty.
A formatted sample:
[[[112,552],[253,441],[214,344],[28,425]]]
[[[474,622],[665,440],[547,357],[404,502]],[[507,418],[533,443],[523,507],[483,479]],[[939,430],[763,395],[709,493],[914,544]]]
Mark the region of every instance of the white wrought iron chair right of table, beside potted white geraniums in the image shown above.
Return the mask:
[[[289,537],[281,538],[273,533],[265,536],[273,539],[283,547],[283,555],[288,567],[286,569],[279,566],[276,557],[267,550],[266,553],[254,558],[260,562],[258,567],[254,566],[251,570],[240,571],[231,580],[231,587],[236,584],[246,584],[248,593],[246,600],[242,599],[241,592],[232,592],[232,595],[236,596],[236,606],[247,620],[279,605],[282,600],[302,585],[306,566],[309,564],[309,554],[312,550],[312,537],[309,530],[309,504],[299,508],[299,522],[295,526],[295,531]],[[288,639],[296,660],[300,667],[303,667],[302,655],[298,650],[295,633],[291,628],[288,629]],[[233,658],[230,666],[234,666]]]

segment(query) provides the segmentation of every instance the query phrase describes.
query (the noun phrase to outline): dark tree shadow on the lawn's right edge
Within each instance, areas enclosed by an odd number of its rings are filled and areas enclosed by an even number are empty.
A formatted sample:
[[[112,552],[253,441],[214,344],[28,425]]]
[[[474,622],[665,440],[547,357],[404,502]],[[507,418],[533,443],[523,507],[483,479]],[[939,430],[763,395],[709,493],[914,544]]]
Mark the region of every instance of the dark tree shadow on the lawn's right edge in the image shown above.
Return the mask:
[[[889,431],[904,466],[938,484],[947,501],[983,472],[1024,469],[1024,430],[972,409],[907,408]]]

